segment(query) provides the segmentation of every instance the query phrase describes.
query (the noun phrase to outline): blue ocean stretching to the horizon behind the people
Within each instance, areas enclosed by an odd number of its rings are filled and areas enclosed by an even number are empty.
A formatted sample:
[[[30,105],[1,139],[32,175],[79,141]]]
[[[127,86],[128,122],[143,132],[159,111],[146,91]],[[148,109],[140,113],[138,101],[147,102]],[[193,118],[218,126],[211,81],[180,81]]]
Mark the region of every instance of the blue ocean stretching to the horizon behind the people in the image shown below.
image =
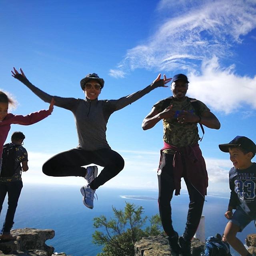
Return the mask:
[[[105,215],[113,216],[112,206],[123,209],[126,202],[142,206],[144,216],[158,213],[158,192],[152,190],[121,190],[101,187],[97,190],[98,200],[94,209],[88,209],[82,203],[78,186],[30,185],[24,184],[14,218],[15,228],[39,228],[55,230],[55,237],[46,244],[55,248],[55,252],[65,252],[72,256],[96,256],[101,247],[92,243],[93,218]],[[228,206],[228,194],[206,196],[204,204],[205,235],[214,236],[223,233],[226,225],[224,212]],[[174,196],[172,200],[172,219],[175,230],[182,234],[188,211],[188,194]],[[7,201],[0,215],[2,225],[7,209]],[[256,233],[254,223],[238,234],[244,242],[247,234]],[[238,256],[232,250],[233,256]]]

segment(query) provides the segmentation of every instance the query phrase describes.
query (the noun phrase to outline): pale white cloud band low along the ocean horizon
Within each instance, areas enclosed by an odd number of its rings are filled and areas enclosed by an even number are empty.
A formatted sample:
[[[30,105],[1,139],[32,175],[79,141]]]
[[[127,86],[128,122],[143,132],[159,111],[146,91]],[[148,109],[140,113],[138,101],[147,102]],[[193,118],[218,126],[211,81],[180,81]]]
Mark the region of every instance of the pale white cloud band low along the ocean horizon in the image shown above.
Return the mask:
[[[153,154],[154,153],[154,154]],[[84,186],[86,181],[82,177],[51,177],[42,173],[43,163],[54,154],[28,152],[29,170],[22,173],[22,180],[26,183],[43,184],[65,184],[67,186]],[[137,156],[140,155],[138,158]],[[159,163],[159,152],[126,152],[123,151],[125,160],[124,170],[117,176],[106,182],[104,187],[108,188],[140,188],[158,190],[157,168]],[[223,192],[229,190],[228,170],[232,166],[229,160],[217,158],[206,158],[206,166],[209,176],[209,191]],[[98,166],[99,172],[103,169]],[[183,180],[183,179],[182,179]],[[182,181],[182,189],[186,185]]]

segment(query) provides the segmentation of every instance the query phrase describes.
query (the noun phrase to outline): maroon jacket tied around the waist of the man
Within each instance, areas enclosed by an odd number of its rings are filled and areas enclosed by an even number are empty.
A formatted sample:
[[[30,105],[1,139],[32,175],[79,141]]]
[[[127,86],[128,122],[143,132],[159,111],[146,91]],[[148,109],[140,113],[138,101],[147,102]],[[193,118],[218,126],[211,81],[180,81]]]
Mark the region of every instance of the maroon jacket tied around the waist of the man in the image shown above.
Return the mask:
[[[202,151],[200,150],[198,143],[177,148],[176,146],[164,142],[164,147],[160,151],[160,164],[162,161],[163,150],[165,149],[175,150],[172,163],[175,195],[178,196],[180,194],[181,177],[185,176],[192,186],[194,186],[194,188],[196,188],[196,190],[198,190],[204,197],[206,195],[206,188],[208,187],[208,175]]]

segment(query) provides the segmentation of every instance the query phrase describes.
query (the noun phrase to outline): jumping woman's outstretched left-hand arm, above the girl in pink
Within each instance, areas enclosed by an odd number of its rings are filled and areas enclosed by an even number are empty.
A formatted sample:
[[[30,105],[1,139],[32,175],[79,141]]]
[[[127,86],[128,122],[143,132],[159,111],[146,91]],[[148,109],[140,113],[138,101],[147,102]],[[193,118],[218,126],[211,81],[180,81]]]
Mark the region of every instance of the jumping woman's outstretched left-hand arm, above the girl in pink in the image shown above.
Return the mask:
[[[38,96],[44,102],[50,103],[52,98],[54,97],[55,105],[60,108],[66,108],[68,110],[72,110],[76,106],[77,100],[74,98],[62,98],[62,97],[58,97],[58,96],[52,96],[52,95],[47,94],[46,92],[40,90],[33,84],[31,84],[29,82],[29,80],[26,78],[26,76],[21,68],[20,68],[20,73],[16,70],[16,68],[13,68],[13,70],[11,72],[12,72],[12,76],[14,78],[19,80],[23,84],[25,84],[30,90],[32,90],[32,92],[34,92],[34,94],[36,94],[36,96]]]

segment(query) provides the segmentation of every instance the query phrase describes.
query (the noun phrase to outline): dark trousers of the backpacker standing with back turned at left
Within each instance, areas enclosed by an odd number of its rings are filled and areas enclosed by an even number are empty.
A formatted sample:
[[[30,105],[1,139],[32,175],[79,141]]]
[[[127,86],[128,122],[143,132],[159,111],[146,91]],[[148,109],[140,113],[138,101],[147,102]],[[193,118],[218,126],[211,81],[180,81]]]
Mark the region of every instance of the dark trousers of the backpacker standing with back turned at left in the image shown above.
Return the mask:
[[[8,209],[5,217],[5,222],[1,231],[1,233],[3,234],[9,234],[14,224],[14,214],[18,205],[18,200],[22,187],[23,184],[21,180],[14,182],[0,182],[0,213],[4,203],[4,198],[6,196],[6,193],[8,193]]]

